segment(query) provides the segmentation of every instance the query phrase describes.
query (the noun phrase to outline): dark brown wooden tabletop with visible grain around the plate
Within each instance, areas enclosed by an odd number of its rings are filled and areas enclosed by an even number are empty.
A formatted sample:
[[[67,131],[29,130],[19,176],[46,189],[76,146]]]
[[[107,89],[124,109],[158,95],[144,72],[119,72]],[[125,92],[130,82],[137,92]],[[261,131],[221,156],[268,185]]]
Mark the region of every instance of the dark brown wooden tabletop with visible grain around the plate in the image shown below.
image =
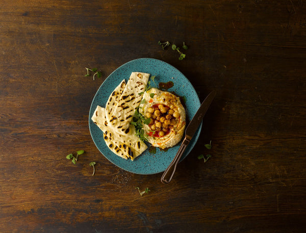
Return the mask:
[[[4,0],[0,22],[0,232],[305,232],[305,2]],[[201,101],[217,91],[168,185],[89,132],[99,86],[137,58],[182,71]]]

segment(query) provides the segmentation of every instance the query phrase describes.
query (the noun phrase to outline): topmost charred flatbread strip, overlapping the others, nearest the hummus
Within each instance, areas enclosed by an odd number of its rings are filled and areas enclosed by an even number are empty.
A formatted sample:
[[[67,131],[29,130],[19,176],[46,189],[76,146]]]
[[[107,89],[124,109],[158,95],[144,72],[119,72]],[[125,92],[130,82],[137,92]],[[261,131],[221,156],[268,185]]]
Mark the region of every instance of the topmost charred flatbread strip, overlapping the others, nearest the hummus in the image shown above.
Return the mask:
[[[132,72],[108,121],[115,132],[122,135],[129,134],[130,122],[142,98],[142,94],[139,93],[144,92],[149,76],[149,73]]]

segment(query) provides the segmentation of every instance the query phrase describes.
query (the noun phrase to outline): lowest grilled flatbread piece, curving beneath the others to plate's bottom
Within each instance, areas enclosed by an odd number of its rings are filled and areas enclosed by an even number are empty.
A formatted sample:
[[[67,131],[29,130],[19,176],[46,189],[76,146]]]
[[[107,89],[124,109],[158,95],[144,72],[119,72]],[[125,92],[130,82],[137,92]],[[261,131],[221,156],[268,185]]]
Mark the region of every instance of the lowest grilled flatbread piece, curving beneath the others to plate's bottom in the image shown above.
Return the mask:
[[[144,150],[146,150],[146,144],[141,141],[135,133],[133,135],[125,136],[118,134],[112,130],[112,127],[108,126],[106,120],[105,108],[97,106],[96,110],[91,117],[91,120],[103,131],[104,140],[106,145],[113,151],[117,156],[123,159],[131,159],[132,161],[138,157]],[[131,132],[135,128],[133,125]],[[134,129],[133,129],[134,128]]]

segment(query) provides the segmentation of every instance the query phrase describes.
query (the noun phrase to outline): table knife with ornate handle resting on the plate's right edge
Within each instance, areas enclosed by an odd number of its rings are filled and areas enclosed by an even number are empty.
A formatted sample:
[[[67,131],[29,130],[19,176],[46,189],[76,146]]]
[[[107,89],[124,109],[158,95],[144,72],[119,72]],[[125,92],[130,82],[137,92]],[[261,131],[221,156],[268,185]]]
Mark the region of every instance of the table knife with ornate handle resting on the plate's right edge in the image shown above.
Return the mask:
[[[194,117],[188,124],[186,131],[185,131],[185,138],[179,148],[179,151],[177,151],[174,159],[172,160],[172,162],[170,163],[170,165],[167,167],[164,174],[162,175],[162,178],[161,178],[162,183],[168,184],[171,181],[173,174],[175,172],[176,166],[182,157],[182,154],[186,150],[190,140],[192,139],[193,135],[197,131],[197,128],[199,127],[203,117],[205,116],[215,96],[216,96],[216,91],[212,91],[211,93],[209,93],[209,95],[201,103],[200,108],[198,109],[198,111],[195,113]]]

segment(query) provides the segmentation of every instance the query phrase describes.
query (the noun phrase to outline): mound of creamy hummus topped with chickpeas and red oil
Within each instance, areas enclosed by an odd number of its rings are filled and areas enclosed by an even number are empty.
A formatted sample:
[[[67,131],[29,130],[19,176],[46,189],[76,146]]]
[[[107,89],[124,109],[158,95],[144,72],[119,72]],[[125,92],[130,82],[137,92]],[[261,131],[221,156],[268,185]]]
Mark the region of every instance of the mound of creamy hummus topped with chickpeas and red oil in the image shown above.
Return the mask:
[[[139,113],[151,119],[148,125],[143,125],[143,129],[153,146],[164,149],[181,141],[186,113],[179,97],[151,88],[143,94]]]

